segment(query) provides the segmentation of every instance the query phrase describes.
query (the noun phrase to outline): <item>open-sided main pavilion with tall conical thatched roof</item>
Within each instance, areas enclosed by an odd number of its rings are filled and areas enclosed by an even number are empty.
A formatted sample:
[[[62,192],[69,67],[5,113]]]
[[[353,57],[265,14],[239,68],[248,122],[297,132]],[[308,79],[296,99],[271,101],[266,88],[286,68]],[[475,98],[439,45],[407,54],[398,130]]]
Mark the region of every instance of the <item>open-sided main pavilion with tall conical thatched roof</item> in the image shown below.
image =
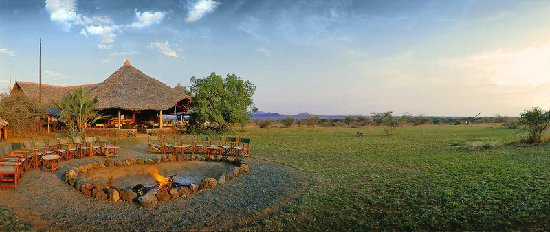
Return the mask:
[[[162,128],[162,111],[186,112],[191,104],[191,97],[147,76],[128,60],[90,95],[98,97],[96,109],[104,115],[118,115],[106,121],[118,128],[123,124],[156,127],[156,119]]]

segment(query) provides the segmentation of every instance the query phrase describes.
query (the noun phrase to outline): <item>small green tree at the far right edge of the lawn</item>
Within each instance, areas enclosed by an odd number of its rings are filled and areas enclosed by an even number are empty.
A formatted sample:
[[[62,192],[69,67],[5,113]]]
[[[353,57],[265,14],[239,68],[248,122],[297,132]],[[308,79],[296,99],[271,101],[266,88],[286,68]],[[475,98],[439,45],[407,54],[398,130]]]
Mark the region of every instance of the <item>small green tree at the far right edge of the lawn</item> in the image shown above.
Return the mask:
[[[533,107],[531,110],[521,113],[519,122],[523,124],[523,130],[528,134],[527,143],[540,143],[540,137],[550,124],[550,111]]]

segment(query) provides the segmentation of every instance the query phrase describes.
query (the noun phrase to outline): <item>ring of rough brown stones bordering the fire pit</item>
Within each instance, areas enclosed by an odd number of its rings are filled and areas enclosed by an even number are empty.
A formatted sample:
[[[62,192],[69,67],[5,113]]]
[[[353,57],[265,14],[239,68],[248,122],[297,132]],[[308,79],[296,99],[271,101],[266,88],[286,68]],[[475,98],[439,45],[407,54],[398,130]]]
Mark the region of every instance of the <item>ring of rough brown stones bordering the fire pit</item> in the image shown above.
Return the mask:
[[[174,162],[174,161],[213,161],[213,162],[225,162],[235,165],[234,172],[230,174],[222,173],[219,178],[204,178],[200,185],[190,183],[188,186],[180,186],[177,189],[160,188],[156,193],[149,191],[143,196],[138,196],[138,193],[133,189],[126,189],[113,185],[113,178],[107,183],[89,183],[82,181],[78,178],[78,174],[84,174],[91,170],[96,170],[104,167],[122,167],[125,165],[146,164],[153,165],[162,162]],[[223,185],[226,181],[230,181],[232,178],[236,178],[243,172],[248,172],[248,163],[239,158],[229,159],[227,156],[205,157],[199,155],[182,155],[174,156],[168,154],[166,157],[157,156],[152,159],[126,159],[125,161],[112,161],[107,159],[105,161],[98,161],[97,163],[88,163],[88,165],[82,165],[80,167],[73,167],[71,170],[65,171],[65,183],[68,183],[79,192],[87,196],[91,196],[100,200],[110,200],[111,202],[117,202],[118,200],[126,200],[130,202],[137,202],[144,207],[155,207],[159,201],[169,200],[170,198],[187,198],[190,194],[202,192],[204,189],[216,187],[216,185]]]

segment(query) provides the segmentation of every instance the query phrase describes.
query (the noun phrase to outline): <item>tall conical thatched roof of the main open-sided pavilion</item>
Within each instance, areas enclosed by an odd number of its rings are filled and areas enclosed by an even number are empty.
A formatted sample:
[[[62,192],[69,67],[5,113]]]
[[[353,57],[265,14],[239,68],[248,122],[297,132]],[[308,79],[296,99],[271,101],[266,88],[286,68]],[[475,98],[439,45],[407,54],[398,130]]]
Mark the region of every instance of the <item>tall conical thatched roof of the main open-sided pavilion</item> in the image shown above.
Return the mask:
[[[98,97],[96,109],[167,110],[177,105],[188,111],[191,97],[147,76],[126,60],[124,65],[90,93]]]

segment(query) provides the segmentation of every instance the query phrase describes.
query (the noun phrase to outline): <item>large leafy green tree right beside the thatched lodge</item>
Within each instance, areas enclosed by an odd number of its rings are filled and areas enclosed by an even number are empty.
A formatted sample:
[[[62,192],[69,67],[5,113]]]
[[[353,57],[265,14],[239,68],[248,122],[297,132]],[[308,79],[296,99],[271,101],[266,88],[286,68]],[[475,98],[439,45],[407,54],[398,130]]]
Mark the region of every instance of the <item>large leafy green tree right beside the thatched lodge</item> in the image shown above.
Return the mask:
[[[190,121],[195,126],[210,122],[213,128],[226,130],[231,124],[245,125],[258,111],[252,100],[256,86],[235,74],[223,79],[210,73],[206,78],[191,77],[190,81]]]

